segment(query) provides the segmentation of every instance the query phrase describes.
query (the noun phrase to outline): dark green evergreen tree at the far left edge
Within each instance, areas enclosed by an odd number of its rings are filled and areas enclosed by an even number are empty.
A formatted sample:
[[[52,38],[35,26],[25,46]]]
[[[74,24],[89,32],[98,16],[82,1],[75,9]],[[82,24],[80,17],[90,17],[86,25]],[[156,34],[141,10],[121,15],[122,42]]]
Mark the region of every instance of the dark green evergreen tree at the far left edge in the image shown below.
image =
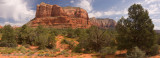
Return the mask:
[[[0,46],[5,46],[5,47],[17,46],[14,29],[11,27],[11,25],[5,25],[3,27],[2,40],[0,42]]]

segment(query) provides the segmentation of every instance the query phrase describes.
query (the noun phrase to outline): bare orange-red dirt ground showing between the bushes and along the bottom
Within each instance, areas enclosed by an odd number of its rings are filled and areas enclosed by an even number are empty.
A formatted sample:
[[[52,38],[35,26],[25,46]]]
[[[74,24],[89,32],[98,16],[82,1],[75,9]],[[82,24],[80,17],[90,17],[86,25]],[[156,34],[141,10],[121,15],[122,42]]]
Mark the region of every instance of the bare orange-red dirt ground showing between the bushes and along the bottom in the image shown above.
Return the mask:
[[[56,36],[56,48],[60,49],[60,51],[63,51],[67,48],[67,45],[62,45],[61,41],[62,39],[65,39],[63,36],[59,35]],[[18,47],[20,47],[21,45],[19,45]],[[30,46],[28,49],[30,50],[36,50],[38,48],[38,46]],[[106,55],[105,58],[125,58],[123,56],[116,56],[116,55],[120,55],[120,54],[125,54],[127,51],[126,50],[122,50],[122,51],[117,51],[115,53],[115,55]],[[59,52],[56,52],[59,53]],[[48,57],[48,56],[37,56],[37,55],[32,55],[32,56],[26,56],[26,55],[22,55],[22,56],[15,56],[12,54],[0,54],[0,58],[100,58],[98,56],[96,56],[95,54],[76,54],[76,55],[71,55],[74,54],[71,51],[67,52],[69,53],[69,56],[65,56],[65,55],[58,55],[56,57]],[[156,55],[156,56],[151,56],[149,58],[160,58],[160,54]]]

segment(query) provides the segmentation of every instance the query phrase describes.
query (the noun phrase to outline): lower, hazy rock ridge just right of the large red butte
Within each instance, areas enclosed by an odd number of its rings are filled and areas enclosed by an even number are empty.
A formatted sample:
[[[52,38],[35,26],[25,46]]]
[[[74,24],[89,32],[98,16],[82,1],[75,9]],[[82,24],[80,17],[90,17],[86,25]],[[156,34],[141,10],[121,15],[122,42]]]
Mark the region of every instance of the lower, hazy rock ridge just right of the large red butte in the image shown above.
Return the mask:
[[[100,28],[114,28],[116,26],[116,21],[113,19],[105,18],[90,18],[91,25],[98,26]]]

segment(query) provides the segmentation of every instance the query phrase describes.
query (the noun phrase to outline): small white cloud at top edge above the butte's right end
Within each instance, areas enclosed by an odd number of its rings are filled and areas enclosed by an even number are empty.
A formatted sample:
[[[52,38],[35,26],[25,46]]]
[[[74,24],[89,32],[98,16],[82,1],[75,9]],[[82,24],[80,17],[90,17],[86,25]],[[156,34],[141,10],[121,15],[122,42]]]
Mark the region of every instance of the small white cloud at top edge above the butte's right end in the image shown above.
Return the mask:
[[[79,3],[76,4],[77,7],[81,7],[85,10],[87,10],[88,12],[93,10],[93,7],[91,5],[91,3],[93,2],[93,0],[79,0]]]

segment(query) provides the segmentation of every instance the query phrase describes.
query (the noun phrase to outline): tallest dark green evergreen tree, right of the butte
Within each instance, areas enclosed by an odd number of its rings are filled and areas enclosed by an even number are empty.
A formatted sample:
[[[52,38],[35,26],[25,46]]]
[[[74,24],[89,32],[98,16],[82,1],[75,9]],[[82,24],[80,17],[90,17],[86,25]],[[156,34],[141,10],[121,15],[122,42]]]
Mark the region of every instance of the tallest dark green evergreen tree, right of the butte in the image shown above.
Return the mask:
[[[139,47],[149,52],[155,44],[154,24],[148,11],[140,4],[134,4],[128,9],[128,18],[121,18],[116,26],[118,32],[117,42],[119,49],[132,50]]]

